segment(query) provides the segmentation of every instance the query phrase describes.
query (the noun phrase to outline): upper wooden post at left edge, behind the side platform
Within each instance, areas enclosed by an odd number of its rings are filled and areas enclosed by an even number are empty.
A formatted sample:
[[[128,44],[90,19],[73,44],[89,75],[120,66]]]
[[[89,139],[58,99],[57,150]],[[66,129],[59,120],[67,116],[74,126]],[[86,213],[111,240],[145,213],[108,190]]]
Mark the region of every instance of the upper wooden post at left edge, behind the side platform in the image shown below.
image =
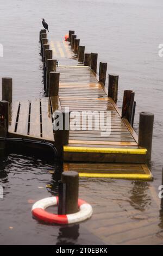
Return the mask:
[[[12,102],[12,78],[2,77],[2,100]]]

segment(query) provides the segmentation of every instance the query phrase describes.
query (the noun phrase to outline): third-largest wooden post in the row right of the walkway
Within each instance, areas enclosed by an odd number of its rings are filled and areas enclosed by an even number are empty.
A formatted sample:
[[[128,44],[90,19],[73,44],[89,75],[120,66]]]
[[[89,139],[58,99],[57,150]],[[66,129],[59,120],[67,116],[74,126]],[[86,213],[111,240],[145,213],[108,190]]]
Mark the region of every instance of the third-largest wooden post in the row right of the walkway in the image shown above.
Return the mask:
[[[115,103],[118,99],[118,76],[109,74],[108,97],[111,97]]]

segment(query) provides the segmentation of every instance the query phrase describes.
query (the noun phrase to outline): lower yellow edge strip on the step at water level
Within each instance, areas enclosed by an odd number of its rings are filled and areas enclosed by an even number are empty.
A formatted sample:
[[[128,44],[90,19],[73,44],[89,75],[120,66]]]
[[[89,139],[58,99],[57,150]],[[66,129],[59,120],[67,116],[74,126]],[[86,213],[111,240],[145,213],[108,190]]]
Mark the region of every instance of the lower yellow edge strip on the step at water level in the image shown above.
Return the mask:
[[[151,173],[149,173],[149,174],[79,173],[79,177],[151,180],[151,181],[153,180],[153,175]]]

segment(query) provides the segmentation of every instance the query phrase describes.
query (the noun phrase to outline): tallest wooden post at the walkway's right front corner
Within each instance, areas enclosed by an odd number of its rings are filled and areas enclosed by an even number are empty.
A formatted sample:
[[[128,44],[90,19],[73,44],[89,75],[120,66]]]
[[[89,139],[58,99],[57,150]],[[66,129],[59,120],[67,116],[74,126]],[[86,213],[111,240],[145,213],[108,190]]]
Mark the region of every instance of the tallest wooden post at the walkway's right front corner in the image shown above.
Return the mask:
[[[141,112],[139,119],[139,146],[147,149],[147,161],[151,161],[154,114]]]

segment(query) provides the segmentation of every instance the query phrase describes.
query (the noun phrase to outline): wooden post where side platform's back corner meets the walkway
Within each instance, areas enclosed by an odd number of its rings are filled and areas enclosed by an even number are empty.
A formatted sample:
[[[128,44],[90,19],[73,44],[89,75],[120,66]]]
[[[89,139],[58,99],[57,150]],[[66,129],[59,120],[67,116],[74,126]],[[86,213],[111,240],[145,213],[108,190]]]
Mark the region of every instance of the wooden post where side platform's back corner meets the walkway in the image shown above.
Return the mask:
[[[49,73],[49,91],[48,96],[58,96],[59,92],[59,72],[50,72]]]

